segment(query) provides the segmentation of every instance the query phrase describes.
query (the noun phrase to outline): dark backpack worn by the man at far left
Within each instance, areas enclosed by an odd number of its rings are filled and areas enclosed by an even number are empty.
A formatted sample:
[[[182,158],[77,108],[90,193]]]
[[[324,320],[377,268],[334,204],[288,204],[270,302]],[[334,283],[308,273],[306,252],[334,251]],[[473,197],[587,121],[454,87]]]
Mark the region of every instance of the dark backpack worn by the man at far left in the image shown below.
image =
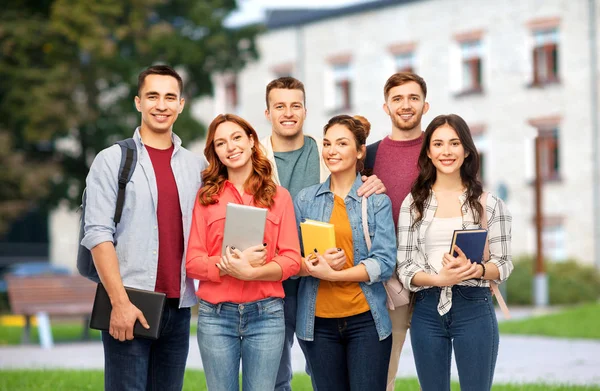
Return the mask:
[[[115,228],[121,221],[121,214],[123,213],[123,205],[125,205],[125,187],[131,179],[135,166],[137,164],[137,147],[135,141],[132,138],[126,140],[117,141],[115,144],[119,144],[121,147],[121,164],[119,165],[119,191],[117,193],[117,206],[115,208],[115,216],[113,220],[115,222]],[[81,245],[81,241],[84,236],[84,225],[85,225],[85,207],[86,207],[86,190],[83,190],[83,196],[81,197],[81,220],[79,222],[79,250],[77,251],[77,270],[79,273],[94,281],[100,282],[98,271],[94,265],[92,259],[92,253],[86,247]],[[115,243],[116,245],[116,243]]]

